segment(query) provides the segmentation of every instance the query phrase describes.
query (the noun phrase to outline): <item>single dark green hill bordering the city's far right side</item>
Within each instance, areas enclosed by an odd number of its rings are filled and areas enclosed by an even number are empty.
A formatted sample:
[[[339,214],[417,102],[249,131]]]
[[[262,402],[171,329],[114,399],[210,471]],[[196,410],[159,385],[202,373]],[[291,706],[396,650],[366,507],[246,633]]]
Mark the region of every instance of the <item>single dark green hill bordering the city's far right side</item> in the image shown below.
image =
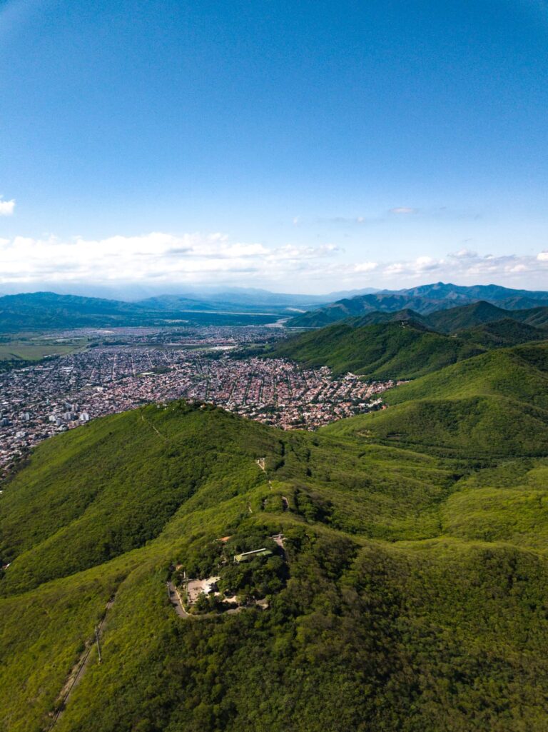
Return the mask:
[[[481,346],[424,329],[413,321],[354,326],[337,324],[279,343],[273,356],[335,373],[367,378],[415,378],[483,351]]]

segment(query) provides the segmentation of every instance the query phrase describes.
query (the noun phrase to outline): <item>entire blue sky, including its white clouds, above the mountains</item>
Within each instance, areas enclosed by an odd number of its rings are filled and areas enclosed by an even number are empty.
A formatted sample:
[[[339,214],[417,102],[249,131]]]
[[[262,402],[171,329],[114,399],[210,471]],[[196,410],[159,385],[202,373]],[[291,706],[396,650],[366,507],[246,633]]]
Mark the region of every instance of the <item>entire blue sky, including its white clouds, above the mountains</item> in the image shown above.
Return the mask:
[[[0,291],[548,288],[548,3],[0,3]]]

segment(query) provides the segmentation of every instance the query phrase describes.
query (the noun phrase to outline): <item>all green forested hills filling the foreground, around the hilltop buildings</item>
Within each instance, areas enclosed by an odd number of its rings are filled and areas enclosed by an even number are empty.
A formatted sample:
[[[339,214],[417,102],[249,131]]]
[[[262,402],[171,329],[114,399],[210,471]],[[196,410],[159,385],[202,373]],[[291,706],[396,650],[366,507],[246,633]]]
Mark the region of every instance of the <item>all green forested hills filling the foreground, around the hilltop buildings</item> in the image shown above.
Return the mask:
[[[478,458],[376,437],[424,389],[509,401],[510,367],[533,373],[513,419],[544,414],[546,351],[496,354],[318,433],[171,403],[43,443],[0,496],[0,729],[50,728],[113,598],[102,663],[93,649],[56,731],[544,732],[548,442]],[[432,436],[435,408],[421,419]],[[268,609],[176,614],[172,562],[279,531],[288,576]]]

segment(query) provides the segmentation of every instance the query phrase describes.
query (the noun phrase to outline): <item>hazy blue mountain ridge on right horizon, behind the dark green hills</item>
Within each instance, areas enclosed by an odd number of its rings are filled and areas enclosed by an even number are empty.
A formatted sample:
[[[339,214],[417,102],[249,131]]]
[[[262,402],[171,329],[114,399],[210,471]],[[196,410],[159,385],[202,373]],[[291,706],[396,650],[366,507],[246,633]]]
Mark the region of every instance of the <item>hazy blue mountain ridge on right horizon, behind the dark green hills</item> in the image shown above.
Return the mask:
[[[399,291],[379,291],[372,294],[342,298],[330,305],[301,313],[288,321],[288,326],[321,328],[337,321],[367,313],[395,313],[410,309],[419,314],[435,313],[455,305],[467,305],[483,300],[506,310],[525,310],[548,305],[548,292],[512,290],[499,285],[451,285],[435,283]]]

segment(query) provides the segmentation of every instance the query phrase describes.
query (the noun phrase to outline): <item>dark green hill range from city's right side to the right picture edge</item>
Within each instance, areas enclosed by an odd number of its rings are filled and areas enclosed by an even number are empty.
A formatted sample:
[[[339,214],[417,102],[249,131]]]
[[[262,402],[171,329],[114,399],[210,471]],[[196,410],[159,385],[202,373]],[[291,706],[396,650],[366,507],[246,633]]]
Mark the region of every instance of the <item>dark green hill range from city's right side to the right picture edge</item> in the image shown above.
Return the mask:
[[[416,378],[487,349],[547,340],[547,313],[545,307],[508,311],[489,302],[429,315],[378,311],[300,333],[268,355],[367,378]]]

